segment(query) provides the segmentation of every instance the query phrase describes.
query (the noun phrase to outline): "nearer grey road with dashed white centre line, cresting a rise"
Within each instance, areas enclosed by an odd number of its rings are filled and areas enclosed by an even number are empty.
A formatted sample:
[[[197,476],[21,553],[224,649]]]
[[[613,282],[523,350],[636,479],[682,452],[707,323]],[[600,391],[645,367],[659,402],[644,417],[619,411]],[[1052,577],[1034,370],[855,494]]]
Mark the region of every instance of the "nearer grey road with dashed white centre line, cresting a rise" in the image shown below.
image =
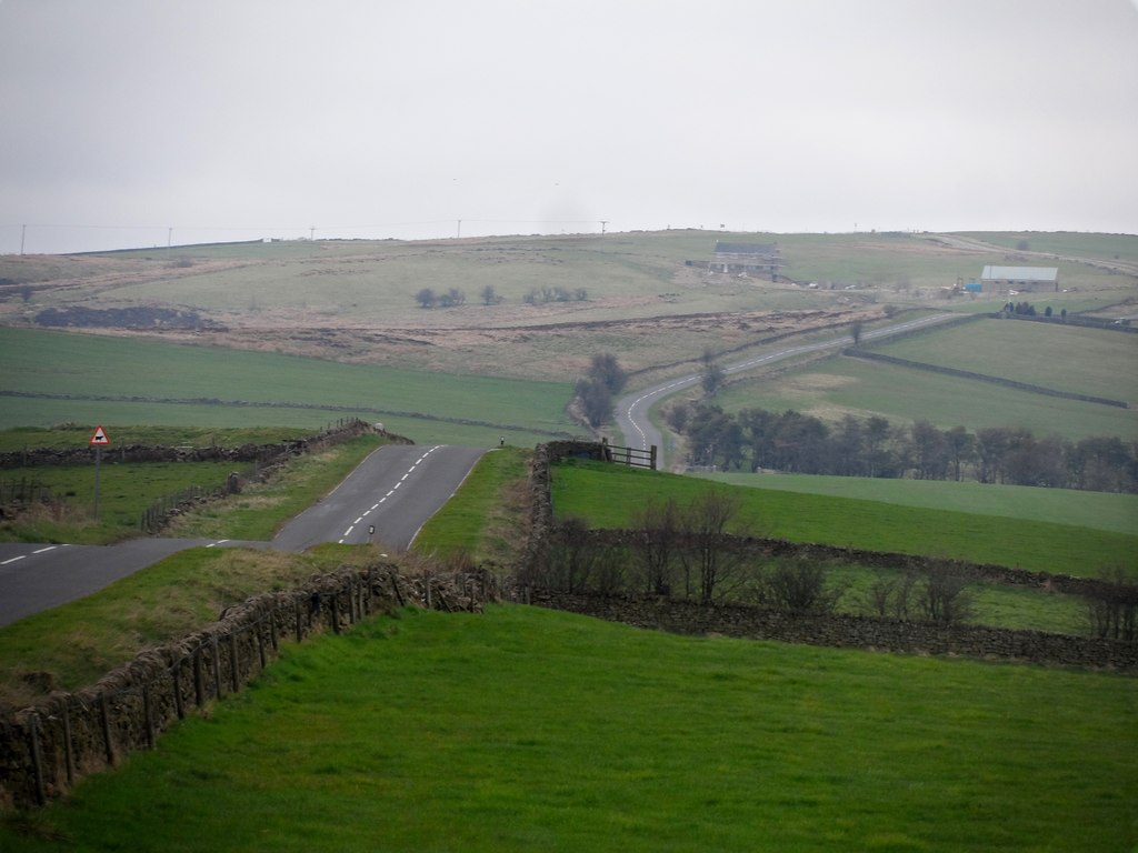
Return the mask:
[[[483,448],[387,445],[364,459],[271,543],[230,539],[131,539],[113,546],[0,543],[0,626],[96,593],[193,547],[246,546],[304,550],[320,543],[373,541],[393,552],[454,494]],[[376,532],[371,533],[370,528]]]

